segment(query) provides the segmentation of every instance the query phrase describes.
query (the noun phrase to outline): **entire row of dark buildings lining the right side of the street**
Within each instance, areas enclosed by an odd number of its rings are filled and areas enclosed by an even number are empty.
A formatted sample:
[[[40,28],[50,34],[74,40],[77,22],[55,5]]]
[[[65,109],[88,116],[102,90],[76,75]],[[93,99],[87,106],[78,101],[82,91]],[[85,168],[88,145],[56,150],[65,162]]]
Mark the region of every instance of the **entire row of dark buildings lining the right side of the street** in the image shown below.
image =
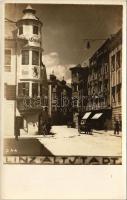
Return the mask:
[[[78,65],[70,70],[76,127],[83,115],[93,129],[113,129],[116,120],[121,125],[122,31],[105,40],[89,59],[88,68]]]

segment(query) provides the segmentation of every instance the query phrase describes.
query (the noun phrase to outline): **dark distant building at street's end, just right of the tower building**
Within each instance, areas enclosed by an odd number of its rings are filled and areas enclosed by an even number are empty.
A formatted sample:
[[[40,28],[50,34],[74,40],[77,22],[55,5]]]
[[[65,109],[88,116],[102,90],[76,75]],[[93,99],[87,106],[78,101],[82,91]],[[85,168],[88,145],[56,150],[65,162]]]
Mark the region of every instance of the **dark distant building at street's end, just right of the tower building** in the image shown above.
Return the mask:
[[[66,81],[58,80],[54,74],[48,80],[48,110],[52,124],[65,125],[72,121],[71,88]]]

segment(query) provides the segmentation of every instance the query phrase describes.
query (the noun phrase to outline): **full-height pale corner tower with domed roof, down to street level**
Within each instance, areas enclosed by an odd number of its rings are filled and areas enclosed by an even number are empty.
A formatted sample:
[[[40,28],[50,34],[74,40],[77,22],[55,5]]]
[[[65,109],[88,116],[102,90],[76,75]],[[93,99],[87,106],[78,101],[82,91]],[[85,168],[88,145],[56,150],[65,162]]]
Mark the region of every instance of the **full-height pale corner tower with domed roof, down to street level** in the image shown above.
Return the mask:
[[[23,14],[17,21],[16,116],[23,120],[23,123],[19,123],[20,132],[37,134],[40,113],[46,113],[48,105],[47,76],[42,63],[43,24],[30,5],[23,10]]]

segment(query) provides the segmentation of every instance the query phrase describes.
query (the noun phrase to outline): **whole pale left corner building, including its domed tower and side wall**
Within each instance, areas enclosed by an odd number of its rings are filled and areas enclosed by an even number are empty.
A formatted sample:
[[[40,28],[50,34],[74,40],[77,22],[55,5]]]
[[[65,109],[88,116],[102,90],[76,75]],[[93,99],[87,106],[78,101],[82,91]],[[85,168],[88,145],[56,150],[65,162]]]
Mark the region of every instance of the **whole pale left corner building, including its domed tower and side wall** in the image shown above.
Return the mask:
[[[48,113],[48,83],[42,63],[42,23],[31,6],[5,38],[5,134],[38,134]],[[9,116],[9,117],[8,117]]]

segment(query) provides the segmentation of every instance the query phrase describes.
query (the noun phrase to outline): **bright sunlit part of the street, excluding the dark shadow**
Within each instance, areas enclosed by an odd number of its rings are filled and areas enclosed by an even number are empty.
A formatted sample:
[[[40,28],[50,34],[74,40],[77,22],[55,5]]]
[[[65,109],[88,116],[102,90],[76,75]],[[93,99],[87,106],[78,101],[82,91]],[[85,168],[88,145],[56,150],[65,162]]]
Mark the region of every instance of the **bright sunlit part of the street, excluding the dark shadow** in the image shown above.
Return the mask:
[[[122,137],[113,131],[94,131],[93,135],[78,133],[66,126],[52,127],[54,135],[39,137],[38,140],[53,155],[121,156]]]

